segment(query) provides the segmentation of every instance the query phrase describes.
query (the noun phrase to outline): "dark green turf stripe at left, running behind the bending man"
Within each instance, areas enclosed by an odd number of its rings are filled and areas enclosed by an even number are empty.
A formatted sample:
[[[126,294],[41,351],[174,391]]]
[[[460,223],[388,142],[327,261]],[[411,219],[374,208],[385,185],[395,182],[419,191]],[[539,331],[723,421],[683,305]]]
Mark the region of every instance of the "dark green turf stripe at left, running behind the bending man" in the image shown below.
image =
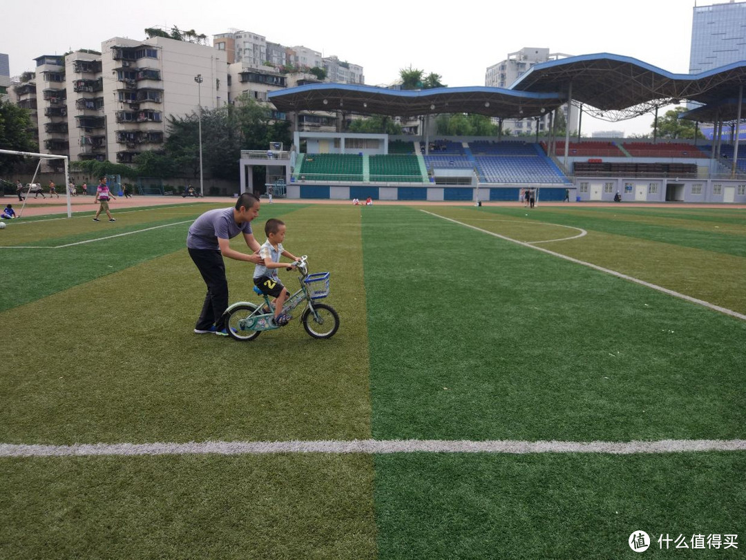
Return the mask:
[[[283,215],[283,213],[292,212],[292,210],[295,210],[295,207],[288,208],[286,205],[280,204],[272,205],[270,210],[263,209],[260,218],[257,218],[254,225],[257,239],[263,240],[264,238],[263,223],[267,218]],[[188,218],[196,218],[196,215]],[[172,218],[169,215],[168,218],[163,218],[163,213],[153,210],[137,215],[135,224],[128,224],[128,221],[122,218],[121,221],[116,221],[116,227],[107,227],[110,225],[108,222],[96,224],[90,221],[84,225],[65,222],[67,227],[72,227],[75,230],[81,227],[87,230],[84,233],[71,236],[57,236],[59,232],[63,231],[63,228],[55,230],[49,224],[40,223],[26,226],[29,229],[24,232],[25,236],[39,238],[35,241],[28,240],[29,245],[48,243],[51,247],[49,249],[28,250],[0,248],[6,286],[13,286],[13,289],[6,289],[0,293],[0,311],[62,292],[72,286],[78,286],[95,278],[121,271],[140,262],[184,249],[186,247],[186,232],[189,230],[190,224],[161,227],[157,230],[143,231],[142,233],[66,248],[56,249],[53,248],[54,246],[95,239],[95,236],[104,237],[126,231],[140,230],[151,227],[151,225],[166,224],[171,221],[184,221],[184,217],[180,215]],[[243,249],[239,250],[248,250],[248,248],[244,244]]]

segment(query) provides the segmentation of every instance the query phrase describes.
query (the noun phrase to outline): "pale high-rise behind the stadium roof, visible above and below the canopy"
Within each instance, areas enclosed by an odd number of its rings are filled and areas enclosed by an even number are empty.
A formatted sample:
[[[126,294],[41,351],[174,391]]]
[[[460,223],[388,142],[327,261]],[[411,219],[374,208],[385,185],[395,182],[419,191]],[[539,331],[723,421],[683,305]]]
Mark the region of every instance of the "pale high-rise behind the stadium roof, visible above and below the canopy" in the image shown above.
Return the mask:
[[[530,68],[536,64],[548,62],[549,60],[560,60],[570,54],[551,53],[548,48],[524,47],[520,51],[511,52],[505,60],[489,66],[486,70],[484,85],[488,87],[508,88],[514,81],[524,75]],[[567,120],[567,106],[563,105],[560,110],[565,114]],[[572,122],[569,124],[570,130],[577,130],[577,111],[572,112]],[[548,133],[549,116],[546,115],[539,119],[520,119],[504,120],[503,128],[510,129],[515,133],[536,133],[536,127],[539,128],[539,134]]]

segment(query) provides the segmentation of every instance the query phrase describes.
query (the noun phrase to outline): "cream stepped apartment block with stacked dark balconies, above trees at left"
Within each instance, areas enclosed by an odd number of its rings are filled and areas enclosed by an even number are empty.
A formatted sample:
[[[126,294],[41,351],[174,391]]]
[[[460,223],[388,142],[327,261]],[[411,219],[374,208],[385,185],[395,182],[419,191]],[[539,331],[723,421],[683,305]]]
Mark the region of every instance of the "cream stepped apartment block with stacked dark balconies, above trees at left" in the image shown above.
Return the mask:
[[[142,151],[162,147],[169,116],[228,101],[226,55],[210,46],[113,37],[101,43],[100,53],[35,60],[34,80],[13,86],[16,102],[32,110],[40,103],[40,149],[71,161],[132,163]],[[57,161],[44,163],[44,170],[56,169]]]

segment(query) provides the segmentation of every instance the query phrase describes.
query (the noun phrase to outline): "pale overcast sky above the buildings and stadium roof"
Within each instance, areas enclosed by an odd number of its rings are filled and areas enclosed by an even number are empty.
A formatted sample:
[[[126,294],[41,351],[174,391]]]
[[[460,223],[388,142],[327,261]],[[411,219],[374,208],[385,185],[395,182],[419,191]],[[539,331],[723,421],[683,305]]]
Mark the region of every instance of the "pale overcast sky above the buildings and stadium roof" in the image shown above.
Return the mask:
[[[715,2],[699,1],[699,5]],[[607,52],[686,74],[694,0],[236,1],[156,0],[94,4],[2,0],[0,52],[10,75],[34,58],[101,50],[111,37],[145,39],[155,26],[194,29],[212,39],[231,28],[273,43],[304,45],[363,66],[366,84],[390,84],[410,65],[448,86],[483,86],[487,66],[523,47],[565,54]],[[451,6],[451,7],[439,7]],[[207,7],[207,9],[206,9]],[[583,116],[583,133],[650,132],[652,116],[606,123]]]

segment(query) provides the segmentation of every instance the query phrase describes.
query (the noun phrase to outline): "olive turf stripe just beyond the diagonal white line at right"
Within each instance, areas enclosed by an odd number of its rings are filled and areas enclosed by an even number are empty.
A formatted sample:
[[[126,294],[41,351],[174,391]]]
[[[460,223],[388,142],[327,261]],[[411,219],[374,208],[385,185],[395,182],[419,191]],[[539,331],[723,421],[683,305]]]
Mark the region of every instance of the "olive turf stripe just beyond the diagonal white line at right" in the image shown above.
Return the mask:
[[[524,242],[562,239],[572,231],[542,221],[552,222],[553,215],[528,220],[525,217],[495,216],[474,209],[448,208],[436,213]],[[587,225],[583,221],[577,224],[580,227]],[[644,236],[613,235],[594,230],[589,230],[588,235],[580,239],[545,243],[541,247],[746,313],[746,298],[742,290],[743,278],[746,277],[745,257],[655,242]]]

